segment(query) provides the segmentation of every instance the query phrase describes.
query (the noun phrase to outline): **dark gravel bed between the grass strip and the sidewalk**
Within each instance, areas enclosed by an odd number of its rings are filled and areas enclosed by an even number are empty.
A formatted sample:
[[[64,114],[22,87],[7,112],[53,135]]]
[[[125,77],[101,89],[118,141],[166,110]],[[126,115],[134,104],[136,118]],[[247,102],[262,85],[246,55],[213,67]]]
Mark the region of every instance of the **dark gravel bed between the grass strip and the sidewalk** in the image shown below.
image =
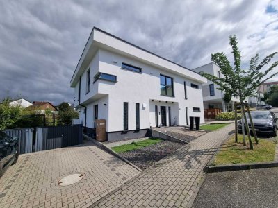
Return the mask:
[[[182,145],[183,144],[178,142],[165,140],[145,148],[120,153],[119,155],[126,158],[129,162],[135,164],[142,170],[145,170],[155,162],[158,162],[158,160],[173,153]]]

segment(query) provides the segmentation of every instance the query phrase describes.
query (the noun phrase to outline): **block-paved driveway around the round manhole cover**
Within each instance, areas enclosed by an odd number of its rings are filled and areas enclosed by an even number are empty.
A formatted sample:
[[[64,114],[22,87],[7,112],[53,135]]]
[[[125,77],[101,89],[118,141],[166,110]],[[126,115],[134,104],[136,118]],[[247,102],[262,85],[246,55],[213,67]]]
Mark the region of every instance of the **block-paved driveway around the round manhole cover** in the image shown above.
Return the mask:
[[[82,173],[83,180],[58,186],[71,173]],[[90,141],[19,155],[0,179],[0,207],[88,207],[138,173]]]

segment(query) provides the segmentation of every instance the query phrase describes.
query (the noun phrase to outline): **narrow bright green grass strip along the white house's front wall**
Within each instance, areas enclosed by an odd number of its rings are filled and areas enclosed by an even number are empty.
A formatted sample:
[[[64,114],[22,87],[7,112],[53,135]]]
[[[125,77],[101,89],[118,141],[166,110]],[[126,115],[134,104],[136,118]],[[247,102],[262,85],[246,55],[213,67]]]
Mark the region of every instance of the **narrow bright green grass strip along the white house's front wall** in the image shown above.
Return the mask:
[[[161,141],[163,141],[163,140],[154,137],[154,138],[149,138],[149,139],[145,139],[145,140],[138,141],[138,142],[133,142],[131,144],[124,144],[124,145],[121,145],[121,146],[115,146],[111,149],[114,150],[116,153],[124,153],[124,152],[127,152],[127,151],[140,149],[140,148],[143,148],[145,146],[150,146],[152,144],[156,144],[156,143],[161,142]]]

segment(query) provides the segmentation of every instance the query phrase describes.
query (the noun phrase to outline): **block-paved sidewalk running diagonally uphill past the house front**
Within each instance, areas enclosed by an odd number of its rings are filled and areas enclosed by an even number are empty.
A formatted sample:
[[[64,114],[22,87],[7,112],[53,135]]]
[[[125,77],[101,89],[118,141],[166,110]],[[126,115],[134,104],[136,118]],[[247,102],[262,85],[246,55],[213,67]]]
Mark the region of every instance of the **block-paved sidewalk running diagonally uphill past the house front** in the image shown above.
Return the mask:
[[[233,129],[227,125],[191,141],[91,207],[190,207],[204,166]]]

